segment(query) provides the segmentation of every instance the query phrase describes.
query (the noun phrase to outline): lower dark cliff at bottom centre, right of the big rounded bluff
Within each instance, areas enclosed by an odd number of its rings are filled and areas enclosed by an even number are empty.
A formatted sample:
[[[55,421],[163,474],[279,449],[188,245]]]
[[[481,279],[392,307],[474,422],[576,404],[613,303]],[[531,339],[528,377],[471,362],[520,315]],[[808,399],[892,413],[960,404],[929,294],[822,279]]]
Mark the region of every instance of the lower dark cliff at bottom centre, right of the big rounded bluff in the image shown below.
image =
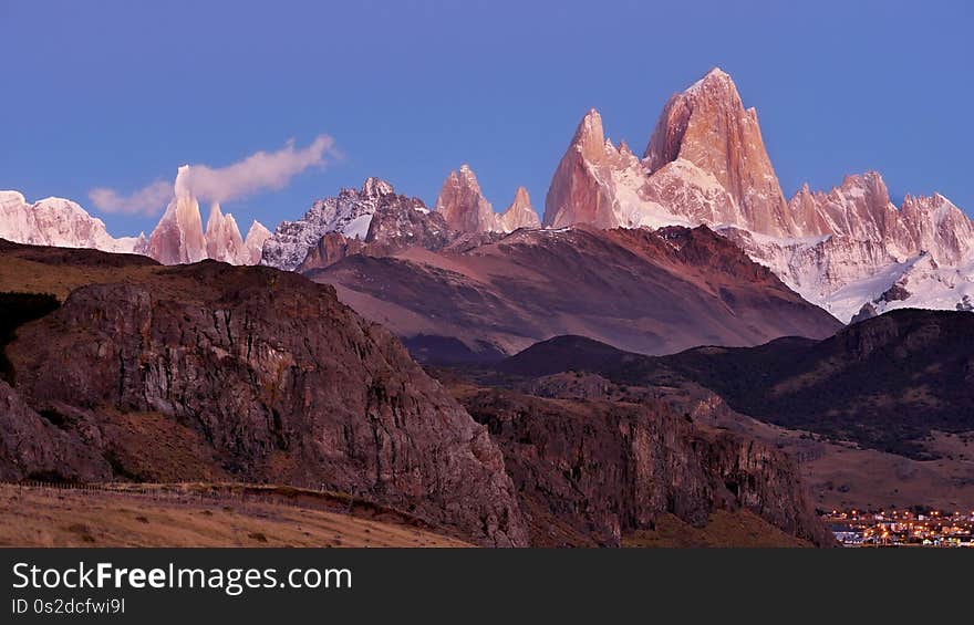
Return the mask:
[[[729,434],[705,435],[662,404],[611,404],[480,390],[464,399],[504,450],[532,544],[618,546],[664,513],[704,525],[747,508],[815,544],[830,537],[790,459]]]

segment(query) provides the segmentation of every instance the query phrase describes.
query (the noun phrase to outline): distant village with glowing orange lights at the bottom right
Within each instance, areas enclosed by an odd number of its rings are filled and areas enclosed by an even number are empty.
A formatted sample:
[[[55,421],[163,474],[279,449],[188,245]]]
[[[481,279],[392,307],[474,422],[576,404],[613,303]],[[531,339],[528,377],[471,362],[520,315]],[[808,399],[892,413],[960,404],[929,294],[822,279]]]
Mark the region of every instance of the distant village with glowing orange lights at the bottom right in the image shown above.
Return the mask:
[[[822,519],[843,546],[974,546],[974,510],[832,510]]]

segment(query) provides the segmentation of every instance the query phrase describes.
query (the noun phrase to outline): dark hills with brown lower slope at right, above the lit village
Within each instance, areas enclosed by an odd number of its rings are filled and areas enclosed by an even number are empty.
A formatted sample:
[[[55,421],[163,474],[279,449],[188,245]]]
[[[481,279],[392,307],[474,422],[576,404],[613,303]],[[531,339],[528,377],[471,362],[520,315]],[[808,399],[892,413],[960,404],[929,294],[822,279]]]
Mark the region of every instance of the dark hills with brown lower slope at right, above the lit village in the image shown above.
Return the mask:
[[[821,509],[966,510],[972,323],[964,312],[902,310],[823,341],[661,357],[561,336],[463,374],[550,398],[665,402],[697,424],[786,451]]]

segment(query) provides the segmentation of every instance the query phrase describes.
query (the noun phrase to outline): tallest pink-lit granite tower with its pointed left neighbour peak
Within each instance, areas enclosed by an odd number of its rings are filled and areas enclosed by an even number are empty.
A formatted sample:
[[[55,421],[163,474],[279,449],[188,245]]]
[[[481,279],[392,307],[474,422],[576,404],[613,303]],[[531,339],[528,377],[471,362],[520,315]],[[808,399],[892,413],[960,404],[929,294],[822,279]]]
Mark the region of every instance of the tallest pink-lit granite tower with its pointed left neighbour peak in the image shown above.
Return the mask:
[[[755,111],[713,70],[670,98],[644,157],[604,138],[589,111],[559,164],[545,202],[546,226],[657,228],[740,223],[790,232],[787,205],[765,152]]]

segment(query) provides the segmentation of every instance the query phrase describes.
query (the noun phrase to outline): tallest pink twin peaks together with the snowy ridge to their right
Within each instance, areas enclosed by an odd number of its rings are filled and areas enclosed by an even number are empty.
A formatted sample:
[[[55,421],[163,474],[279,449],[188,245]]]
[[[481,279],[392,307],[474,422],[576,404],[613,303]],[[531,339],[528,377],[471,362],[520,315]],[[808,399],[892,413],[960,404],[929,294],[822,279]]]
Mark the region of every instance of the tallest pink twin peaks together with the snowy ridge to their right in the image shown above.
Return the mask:
[[[963,211],[939,194],[908,196],[898,209],[874,171],[829,192],[805,186],[786,202],[757,113],[719,69],[666,102],[642,159],[613,147],[589,111],[552,177],[542,221],[707,225],[842,321],[870,302],[879,312],[967,310],[974,299],[974,227]],[[884,299],[894,283],[900,295],[918,294]]]

